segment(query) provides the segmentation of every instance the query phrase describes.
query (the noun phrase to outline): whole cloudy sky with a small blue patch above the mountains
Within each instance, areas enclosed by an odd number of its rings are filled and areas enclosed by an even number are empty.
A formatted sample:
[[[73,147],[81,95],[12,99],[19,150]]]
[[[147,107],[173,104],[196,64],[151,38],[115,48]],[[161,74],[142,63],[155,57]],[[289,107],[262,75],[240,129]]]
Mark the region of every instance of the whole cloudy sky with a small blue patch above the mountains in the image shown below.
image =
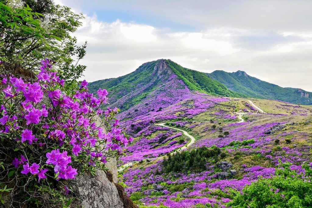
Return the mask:
[[[55,0],[83,13],[83,79],[123,76],[171,59],[200,72],[247,74],[312,92],[312,1]]]

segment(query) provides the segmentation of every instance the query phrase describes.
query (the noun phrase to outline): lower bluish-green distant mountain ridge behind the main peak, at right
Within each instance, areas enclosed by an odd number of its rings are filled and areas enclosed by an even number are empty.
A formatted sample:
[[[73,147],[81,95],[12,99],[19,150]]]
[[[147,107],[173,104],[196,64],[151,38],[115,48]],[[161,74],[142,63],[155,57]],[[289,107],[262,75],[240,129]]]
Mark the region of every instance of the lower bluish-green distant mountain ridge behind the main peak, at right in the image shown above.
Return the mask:
[[[307,92],[298,88],[280,87],[269,82],[261,81],[256,77],[251,77],[246,72],[224,72],[214,71],[205,73],[208,77],[221,82],[232,91],[242,93],[248,97],[281,100],[290,103],[301,103],[302,105],[311,105],[312,92]]]

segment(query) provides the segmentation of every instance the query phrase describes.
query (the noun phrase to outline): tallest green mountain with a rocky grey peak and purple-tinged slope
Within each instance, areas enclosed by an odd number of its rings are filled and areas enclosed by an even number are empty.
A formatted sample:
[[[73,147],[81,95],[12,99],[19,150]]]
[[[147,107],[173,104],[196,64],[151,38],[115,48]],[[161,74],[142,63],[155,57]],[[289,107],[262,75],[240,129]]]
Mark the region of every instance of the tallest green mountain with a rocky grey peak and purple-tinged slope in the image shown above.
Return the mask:
[[[227,89],[202,72],[165,59],[144,63],[122,77],[91,82],[88,87],[91,92],[96,92],[100,87],[107,89],[111,106],[118,106],[121,111],[136,106],[139,109],[137,113],[144,111],[144,105],[155,105],[156,111],[159,107],[180,102],[196,91],[214,96],[244,96]]]

